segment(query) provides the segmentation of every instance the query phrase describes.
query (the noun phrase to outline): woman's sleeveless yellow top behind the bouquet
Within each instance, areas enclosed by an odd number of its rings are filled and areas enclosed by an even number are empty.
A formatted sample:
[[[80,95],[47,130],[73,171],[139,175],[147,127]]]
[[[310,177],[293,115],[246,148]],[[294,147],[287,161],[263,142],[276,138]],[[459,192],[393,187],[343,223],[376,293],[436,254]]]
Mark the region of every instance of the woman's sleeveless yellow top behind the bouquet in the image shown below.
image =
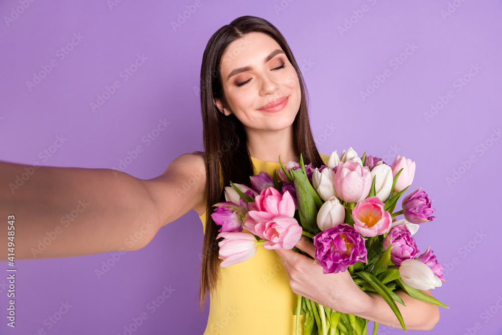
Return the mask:
[[[324,164],[329,156],[320,154]],[[273,174],[279,163],[251,158],[255,174]],[[226,186],[226,185],[225,185]],[[200,215],[205,225],[206,213]],[[252,258],[220,267],[217,287],[210,293],[204,335],[291,335],[295,333],[296,294],[289,286],[281,259],[260,245]],[[301,315],[303,334],[305,315]]]

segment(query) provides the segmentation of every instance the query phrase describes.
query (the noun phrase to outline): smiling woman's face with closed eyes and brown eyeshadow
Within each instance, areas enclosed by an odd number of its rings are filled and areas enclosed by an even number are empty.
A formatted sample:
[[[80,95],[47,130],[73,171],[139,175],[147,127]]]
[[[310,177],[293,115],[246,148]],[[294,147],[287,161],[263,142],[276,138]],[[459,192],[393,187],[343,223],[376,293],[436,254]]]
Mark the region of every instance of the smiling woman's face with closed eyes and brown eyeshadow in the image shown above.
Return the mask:
[[[236,39],[225,49],[220,64],[229,108],[219,99],[214,103],[222,113],[235,115],[246,131],[277,131],[292,126],[300,108],[300,82],[272,37],[249,33]],[[275,106],[267,105],[270,102]]]

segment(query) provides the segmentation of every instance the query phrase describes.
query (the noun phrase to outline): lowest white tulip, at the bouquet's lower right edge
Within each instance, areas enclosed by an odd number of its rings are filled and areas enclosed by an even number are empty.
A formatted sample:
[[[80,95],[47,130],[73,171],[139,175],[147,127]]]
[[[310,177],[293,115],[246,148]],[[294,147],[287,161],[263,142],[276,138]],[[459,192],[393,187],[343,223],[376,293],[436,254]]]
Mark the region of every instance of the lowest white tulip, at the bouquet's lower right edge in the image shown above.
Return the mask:
[[[431,268],[418,259],[404,260],[399,266],[399,275],[406,285],[418,290],[430,290],[442,284]]]

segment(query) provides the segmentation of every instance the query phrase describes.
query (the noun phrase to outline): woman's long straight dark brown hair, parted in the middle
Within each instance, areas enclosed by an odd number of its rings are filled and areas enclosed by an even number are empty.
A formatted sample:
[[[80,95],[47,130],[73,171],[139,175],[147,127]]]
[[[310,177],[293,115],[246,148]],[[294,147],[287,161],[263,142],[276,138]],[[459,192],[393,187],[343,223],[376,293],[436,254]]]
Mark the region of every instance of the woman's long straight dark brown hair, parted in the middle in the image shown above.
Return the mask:
[[[213,97],[227,106],[220,76],[220,60],[225,48],[232,41],[251,32],[261,32],[274,38],[296,69],[301,87],[300,109],[293,122],[295,150],[303,155],[305,164],[320,167],[323,162],[314,143],[307,109],[305,83],[295,57],[282,34],[267,20],[242,16],[221,27],[207,43],[200,69],[200,103],[202,109],[203,139],[206,160],[206,222],[202,246],[202,265],[199,287],[200,308],[203,310],[206,292],[215,288],[218,275],[219,227],[211,218],[213,204],[224,201],[222,185],[241,183],[250,186],[249,176],[254,167],[247,150],[246,134],[240,121],[233,114],[225,116],[218,111]],[[221,172],[220,172],[221,169]],[[221,174],[220,174],[221,173]],[[220,178],[222,177],[221,184]]]

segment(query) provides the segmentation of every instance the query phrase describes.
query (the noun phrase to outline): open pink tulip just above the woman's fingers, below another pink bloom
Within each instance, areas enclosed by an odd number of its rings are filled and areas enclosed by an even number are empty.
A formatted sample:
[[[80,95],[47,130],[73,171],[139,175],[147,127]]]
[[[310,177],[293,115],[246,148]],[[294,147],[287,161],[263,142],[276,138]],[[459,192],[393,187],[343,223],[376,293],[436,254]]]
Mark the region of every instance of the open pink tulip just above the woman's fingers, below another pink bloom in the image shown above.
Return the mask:
[[[255,226],[256,235],[268,241],[265,249],[293,249],[302,237],[302,227],[291,216],[279,215],[270,220],[259,222]]]

